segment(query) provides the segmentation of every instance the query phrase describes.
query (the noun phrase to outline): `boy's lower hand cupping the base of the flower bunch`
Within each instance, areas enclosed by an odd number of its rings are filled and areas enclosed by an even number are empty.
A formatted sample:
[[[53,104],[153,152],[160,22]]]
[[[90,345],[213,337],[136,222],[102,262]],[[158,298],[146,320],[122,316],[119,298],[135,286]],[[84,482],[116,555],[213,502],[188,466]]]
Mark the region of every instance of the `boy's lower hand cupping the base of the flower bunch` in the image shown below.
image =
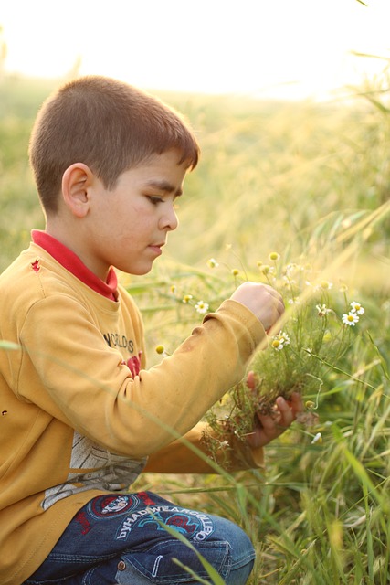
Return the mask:
[[[247,385],[249,390],[255,389],[256,379],[253,372],[248,373]],[[291,394],[290,400],[287,401],[279,396],[275,401],[274,411],[271,414],[257,413],[255,428],[252,433],[248,434],[248,444],[252,449],[264,447],[270,441],[273,441],[297,418],[297,414],[302,412],[303,402],[298,392]]]

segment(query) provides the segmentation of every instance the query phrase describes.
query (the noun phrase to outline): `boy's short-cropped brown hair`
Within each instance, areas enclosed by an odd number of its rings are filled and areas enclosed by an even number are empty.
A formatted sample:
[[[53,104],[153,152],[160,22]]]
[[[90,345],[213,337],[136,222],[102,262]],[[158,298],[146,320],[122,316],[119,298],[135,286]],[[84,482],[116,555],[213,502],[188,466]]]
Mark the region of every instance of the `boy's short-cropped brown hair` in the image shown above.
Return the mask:
[[[195,168],[199,146],[179,113],[127,83],[87,76],[65,84],[44,102],[29,156],[42,206],[56,212],[69,165],[90,166],[111,189],[122,172],[171,148],[181,153],[178,165]]]

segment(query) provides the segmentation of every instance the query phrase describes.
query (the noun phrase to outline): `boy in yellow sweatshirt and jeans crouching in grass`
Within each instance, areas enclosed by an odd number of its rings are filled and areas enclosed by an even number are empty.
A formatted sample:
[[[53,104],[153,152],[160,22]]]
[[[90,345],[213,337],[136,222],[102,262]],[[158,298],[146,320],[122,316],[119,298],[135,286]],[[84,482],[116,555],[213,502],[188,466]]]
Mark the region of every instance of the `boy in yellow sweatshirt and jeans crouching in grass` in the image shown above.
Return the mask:
[[[205,449],[198,421],[243,378],[279,294],[244,283],[146,370],[142,319],[113,267],[145,274],[161,255],[197,164],[193,133],[151,96],[87,77],[47,100],[29,154],[46,229],[0,277],[0,338],[15,344],[0,351],[0,582],[197,582],[183,565],[207,579],[163,525],[228,584],[247,582],[254,551],[240,528],[128,487],[145,465],[212,471],[178,438]],[[230,469],[260,464],[297,410],[278,399],[275,417],[259,415]]]

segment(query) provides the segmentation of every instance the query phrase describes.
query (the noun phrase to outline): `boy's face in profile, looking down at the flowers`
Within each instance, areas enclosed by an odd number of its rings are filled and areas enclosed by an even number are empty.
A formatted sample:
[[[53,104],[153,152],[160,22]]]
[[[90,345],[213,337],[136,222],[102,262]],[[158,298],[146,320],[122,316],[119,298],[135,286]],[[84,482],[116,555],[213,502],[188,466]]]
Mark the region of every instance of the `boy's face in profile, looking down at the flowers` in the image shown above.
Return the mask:
[[[168,232],[178,225],[174,200],[182,194],[186,173],[179,158],[175,150],[155,155],[122,173],[111,191],[96,179],[85,261],[102,280],[111,265],[146,274],[162,254]]]

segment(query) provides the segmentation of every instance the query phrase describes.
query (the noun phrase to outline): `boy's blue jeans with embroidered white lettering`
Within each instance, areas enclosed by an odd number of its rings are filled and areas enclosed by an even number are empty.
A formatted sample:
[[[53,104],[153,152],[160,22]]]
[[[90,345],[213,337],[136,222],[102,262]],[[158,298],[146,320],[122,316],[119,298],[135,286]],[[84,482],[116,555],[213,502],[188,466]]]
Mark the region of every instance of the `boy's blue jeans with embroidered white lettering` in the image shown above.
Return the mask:
[[[227,585],[247,582],[255,552],[241,528],[141,492],[90,500],[24,585],[185,585],[198,583],[195,576],[212,583],[195,552],[164,526],[182,534]]]

